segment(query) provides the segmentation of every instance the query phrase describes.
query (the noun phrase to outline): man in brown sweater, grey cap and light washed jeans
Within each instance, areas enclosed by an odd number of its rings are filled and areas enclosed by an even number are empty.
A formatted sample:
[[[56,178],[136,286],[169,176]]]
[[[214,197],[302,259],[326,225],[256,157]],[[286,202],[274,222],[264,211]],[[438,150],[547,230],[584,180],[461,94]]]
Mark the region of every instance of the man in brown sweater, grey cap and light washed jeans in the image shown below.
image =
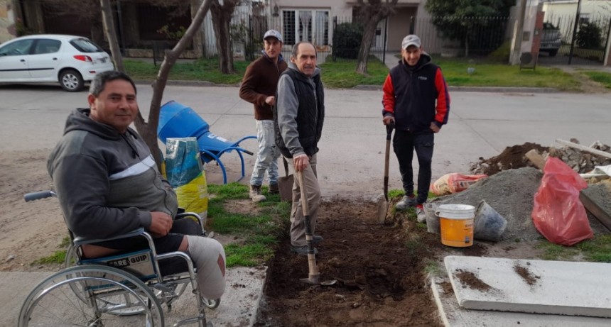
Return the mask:
[[[256,141],[259,151],[250,179],[249,196],[254,202],[265,201],[261,194],[261,184],[267,172],[269,194],[278,194],[278,158],[279,150],[274,141],[274,106],[276,105],[276,87],[280,74],[286,70],[283,60],[282,35],[279,31],[269,30],[263,35],[264,50],[259,59],[248,65],[239,97],[254,105],[256,121]]]

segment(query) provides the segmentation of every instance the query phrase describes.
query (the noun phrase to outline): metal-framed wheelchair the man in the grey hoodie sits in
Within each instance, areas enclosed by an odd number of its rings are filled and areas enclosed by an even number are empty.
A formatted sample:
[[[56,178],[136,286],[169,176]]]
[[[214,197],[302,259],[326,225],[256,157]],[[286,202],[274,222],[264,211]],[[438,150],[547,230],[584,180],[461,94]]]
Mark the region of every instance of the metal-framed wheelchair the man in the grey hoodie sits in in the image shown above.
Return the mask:
[[[53,191],[26,194],[26,201],[56,196]],[[180,218],[193,218],[202,228],[204,223],[198,214],[180,213]],[[81,246],[100,241],[140,237],[148,248],[108,257],[85,259]],[[65,257],[65,268],[43,279],[26,297],[18,316],[18,327],[25,326],[147,326],[165,325],[162,306],[168,312],[172,304],[188,288],[195,294],[198,314],[185,318],[173,326],[198,323],[200,327],[212,326],[206,321],[205,308],[216,309],[220,299],[200,296],[193,261],[186,253],[158,254],[151,235],[139,228],[125,235],[104,240],[74,238]],[[180,260],[185,272],[162,275],[160,262]],[[167,270],[167,269],[166,269]]]

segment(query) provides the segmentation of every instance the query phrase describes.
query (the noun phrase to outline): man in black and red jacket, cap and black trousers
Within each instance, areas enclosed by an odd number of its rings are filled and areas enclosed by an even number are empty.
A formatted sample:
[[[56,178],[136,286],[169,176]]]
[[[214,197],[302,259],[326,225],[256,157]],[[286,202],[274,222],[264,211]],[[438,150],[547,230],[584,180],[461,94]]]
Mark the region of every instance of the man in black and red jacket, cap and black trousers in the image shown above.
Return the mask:
[[[399,160],[405,196],[396,204],[404,210],[422,210],[431,184],[434,133],[448,123],[450,94],[431,56],[423,52],[420,38],[407,35],[401,42],[401,61],[390,70],[384,82],[384,125],[394,123],[393,149]],[[418,157],[418,196],[413,194],[413,150]]]

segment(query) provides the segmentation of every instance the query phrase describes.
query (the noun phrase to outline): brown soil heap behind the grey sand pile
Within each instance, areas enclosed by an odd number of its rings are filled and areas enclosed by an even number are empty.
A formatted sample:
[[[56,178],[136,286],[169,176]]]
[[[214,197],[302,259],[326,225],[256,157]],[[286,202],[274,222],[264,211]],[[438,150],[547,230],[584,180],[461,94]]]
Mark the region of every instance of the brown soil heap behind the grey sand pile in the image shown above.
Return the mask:
[[[471,165],[473,174],[487,174],[492,176],[503,170],[516,169],[522,167],[534,167],[529,160],[526,160],[524,155],[532,149],[536,149],[539,153],[548,152],[549,148],[537,143],[526,142],[522,145],[513,145],[505,148],[500,155],[484,159],[480,157],[478,162]]]

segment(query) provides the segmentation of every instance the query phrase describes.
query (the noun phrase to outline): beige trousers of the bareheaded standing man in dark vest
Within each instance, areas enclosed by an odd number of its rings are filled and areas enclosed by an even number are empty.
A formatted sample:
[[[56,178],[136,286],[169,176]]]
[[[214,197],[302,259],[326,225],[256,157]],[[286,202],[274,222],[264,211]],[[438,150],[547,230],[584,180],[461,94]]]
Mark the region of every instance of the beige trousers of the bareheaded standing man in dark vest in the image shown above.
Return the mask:
[[[291,245],[305,245],[305,219],[303,217],[303,209],[301,207],[301,192],[305,193],[305,198],[308,199],[308,209],[310,216],[310,224],[312,233],[316,227],[316,218],[318,217],[318,207],[320,206],[320,185],[316,177],[316,155],[310,157],[310,165],[301,173],[303,174],[303,182],[305,187],[299,184],[299,179],[295,173],[293,159],[287,158],[289,170],[295,175],[293,179],[293,206],[291,207]]]

